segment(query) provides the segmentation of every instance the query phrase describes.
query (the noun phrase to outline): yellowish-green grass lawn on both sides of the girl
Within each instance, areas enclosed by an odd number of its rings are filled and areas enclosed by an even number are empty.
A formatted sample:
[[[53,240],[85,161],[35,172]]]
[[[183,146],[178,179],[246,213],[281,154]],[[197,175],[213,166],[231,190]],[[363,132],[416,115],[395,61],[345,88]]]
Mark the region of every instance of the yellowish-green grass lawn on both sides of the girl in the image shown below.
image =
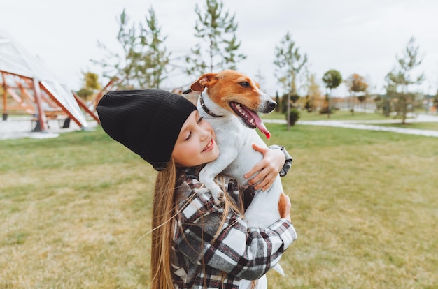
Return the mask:
[[[269,288],[437,288],[437,138],[267,127],[298,233]],[[101,128],[3,140],[0,160],[0,288],[148,288],[150,165]]]

